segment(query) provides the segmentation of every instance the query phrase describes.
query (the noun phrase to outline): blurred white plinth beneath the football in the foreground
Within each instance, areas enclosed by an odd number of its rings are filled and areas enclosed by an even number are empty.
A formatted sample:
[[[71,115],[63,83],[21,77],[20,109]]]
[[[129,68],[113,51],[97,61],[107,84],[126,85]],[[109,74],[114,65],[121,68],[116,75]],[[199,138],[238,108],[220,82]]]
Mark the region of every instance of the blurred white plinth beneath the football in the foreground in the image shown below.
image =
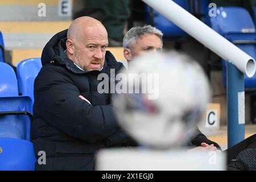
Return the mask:
[[[225,166],[225,154],[185,150],[101,150],[96,162],[99,171],[224,171]]]

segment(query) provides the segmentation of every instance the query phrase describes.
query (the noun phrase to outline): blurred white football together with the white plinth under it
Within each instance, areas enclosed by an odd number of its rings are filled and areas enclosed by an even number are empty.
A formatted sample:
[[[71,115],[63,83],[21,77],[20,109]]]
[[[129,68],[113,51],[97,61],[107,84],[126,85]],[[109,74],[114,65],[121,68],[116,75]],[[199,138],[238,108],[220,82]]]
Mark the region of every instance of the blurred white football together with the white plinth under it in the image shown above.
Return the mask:
[[[119,124],[143,147],[101,150],[97,170],[225,170],[225,154],[182,148],[210,100],[203,69],[177,52],[137,57],[115,77]]]

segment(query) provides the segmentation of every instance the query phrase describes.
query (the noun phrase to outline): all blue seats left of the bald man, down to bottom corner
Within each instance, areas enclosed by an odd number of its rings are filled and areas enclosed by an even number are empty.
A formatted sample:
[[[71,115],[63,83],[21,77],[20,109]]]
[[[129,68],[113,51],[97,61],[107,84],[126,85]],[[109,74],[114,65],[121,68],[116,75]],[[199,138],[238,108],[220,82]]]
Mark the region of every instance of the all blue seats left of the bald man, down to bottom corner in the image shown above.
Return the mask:
[[[0,62],[0,171],[34,170],[30,127],[34,80],[41,67],[40,58],[23,60],[16,77],[9,64]]]

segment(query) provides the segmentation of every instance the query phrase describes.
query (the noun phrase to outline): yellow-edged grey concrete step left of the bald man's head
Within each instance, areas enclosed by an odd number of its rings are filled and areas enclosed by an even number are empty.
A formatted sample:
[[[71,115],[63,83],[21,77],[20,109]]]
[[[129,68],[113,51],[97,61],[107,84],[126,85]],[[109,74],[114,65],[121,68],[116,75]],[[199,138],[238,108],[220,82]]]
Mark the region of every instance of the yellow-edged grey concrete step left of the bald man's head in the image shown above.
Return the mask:
[[[42,49],[57,32],[69,27],[61,22],[0,22],[6,49]]]

